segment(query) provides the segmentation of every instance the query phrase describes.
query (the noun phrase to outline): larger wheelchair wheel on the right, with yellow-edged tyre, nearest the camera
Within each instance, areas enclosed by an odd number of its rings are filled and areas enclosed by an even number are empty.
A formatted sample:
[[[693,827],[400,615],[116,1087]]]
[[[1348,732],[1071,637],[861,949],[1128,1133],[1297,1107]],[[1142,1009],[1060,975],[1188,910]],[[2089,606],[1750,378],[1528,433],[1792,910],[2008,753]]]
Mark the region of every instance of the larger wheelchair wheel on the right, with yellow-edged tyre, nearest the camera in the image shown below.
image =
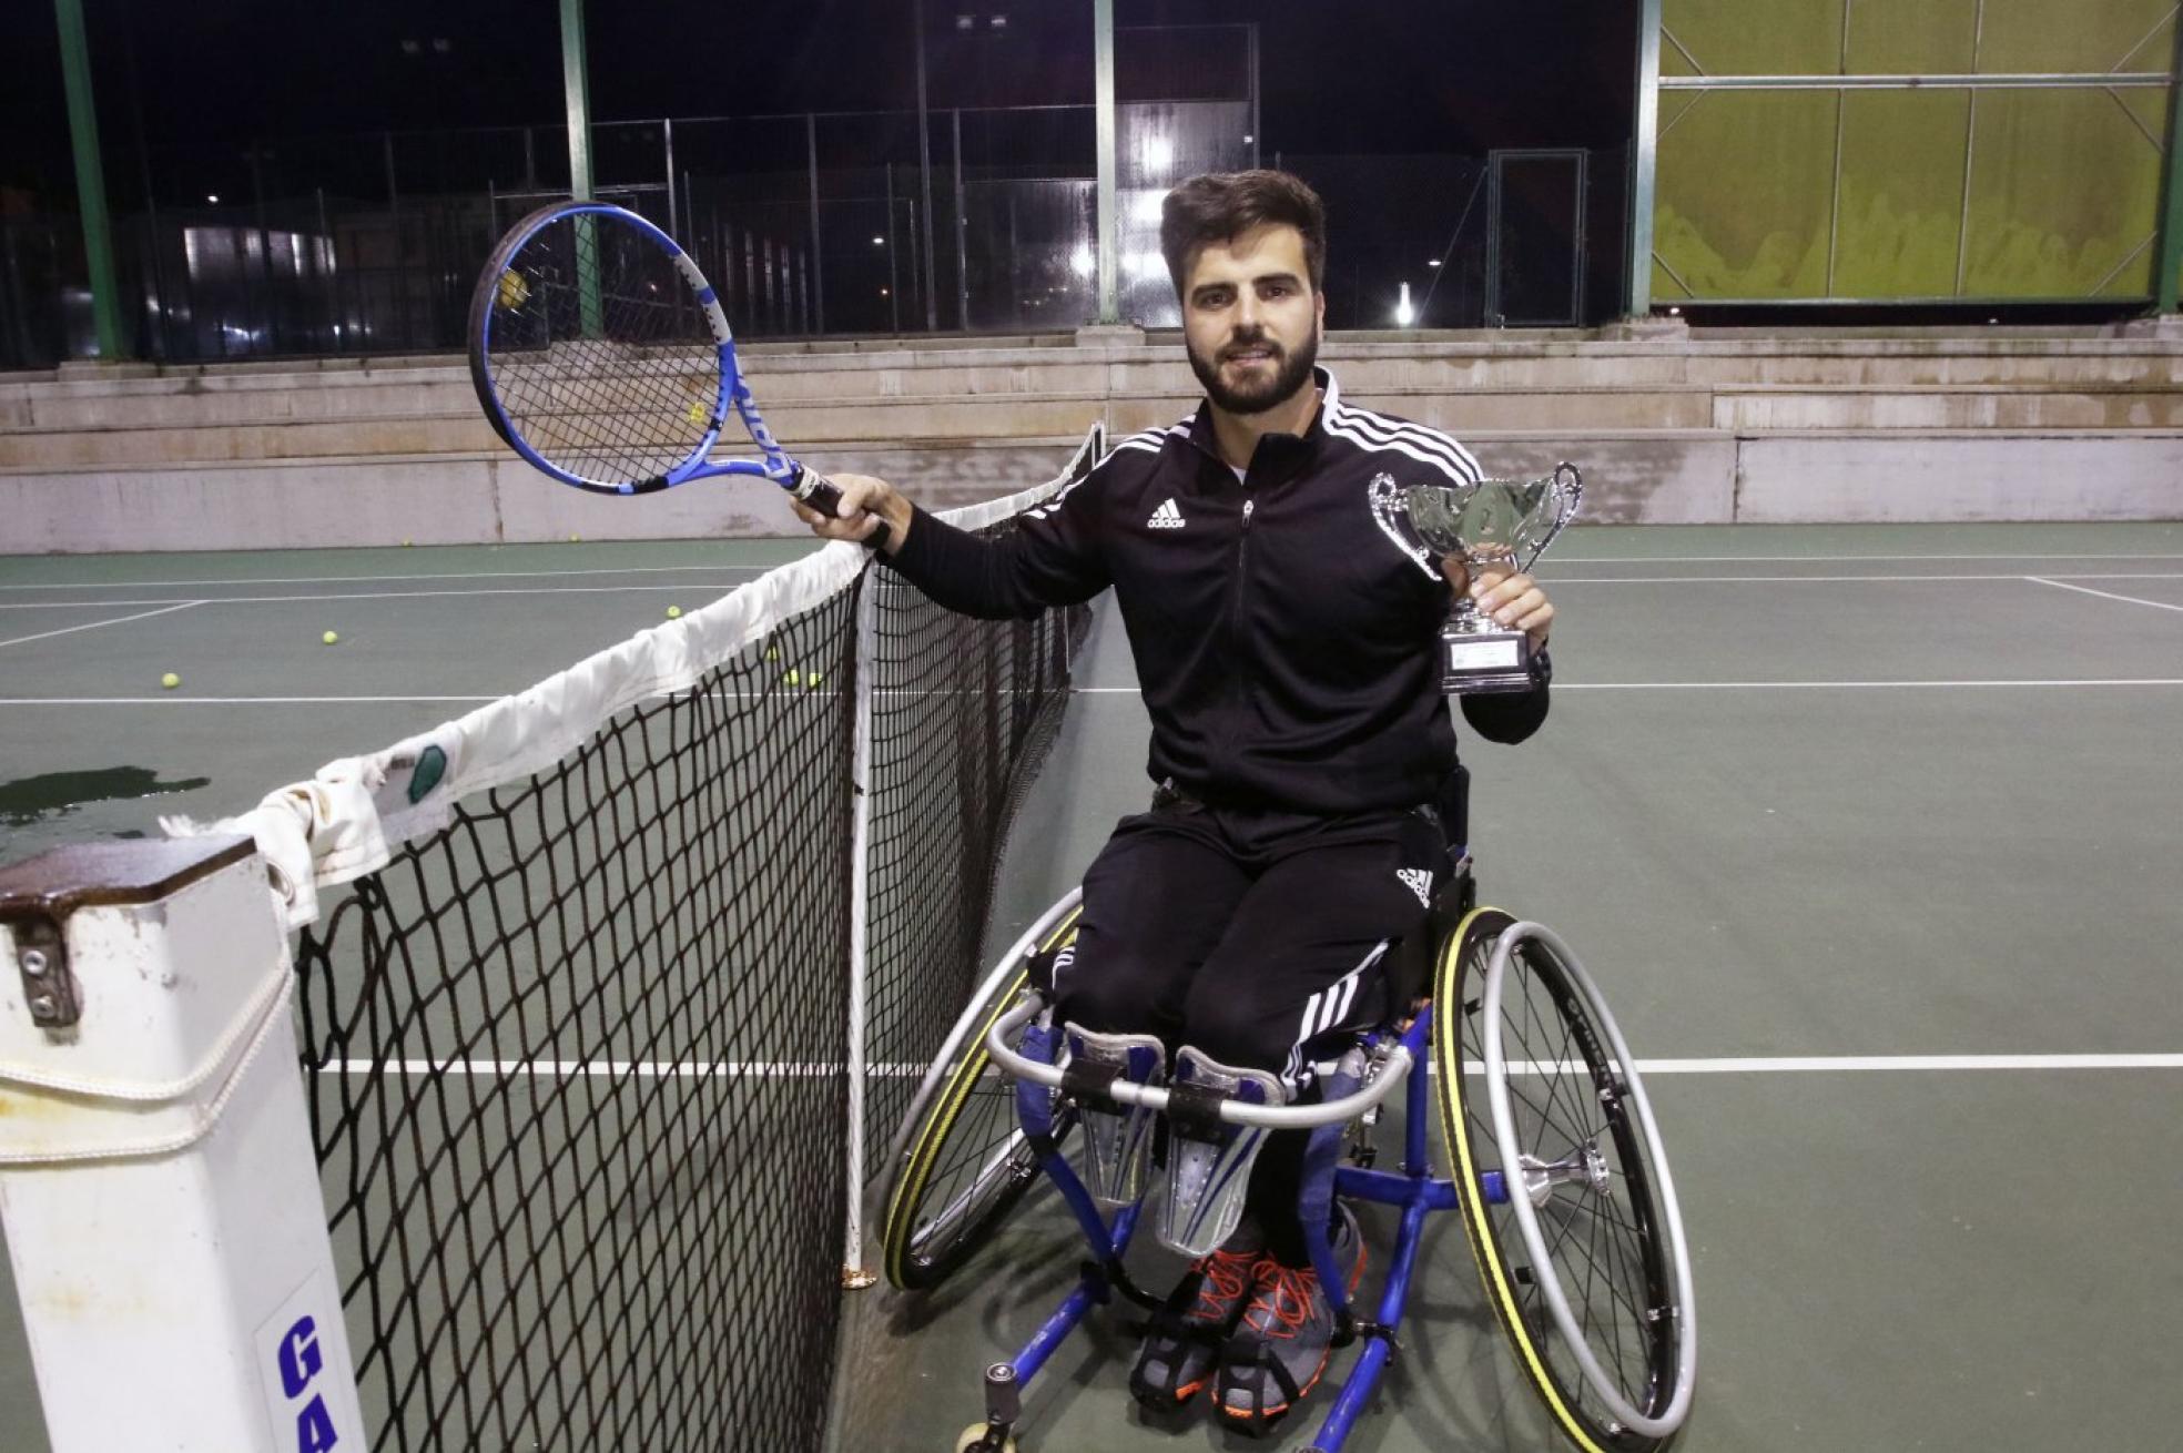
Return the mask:
[[[1436,964],[1432,1056],[1471,1254],[1517,1364],[1578,1449],[1666,1446],[1696,1374],[1690,1252],[1598,988],[1552,932],[1480,908]]]

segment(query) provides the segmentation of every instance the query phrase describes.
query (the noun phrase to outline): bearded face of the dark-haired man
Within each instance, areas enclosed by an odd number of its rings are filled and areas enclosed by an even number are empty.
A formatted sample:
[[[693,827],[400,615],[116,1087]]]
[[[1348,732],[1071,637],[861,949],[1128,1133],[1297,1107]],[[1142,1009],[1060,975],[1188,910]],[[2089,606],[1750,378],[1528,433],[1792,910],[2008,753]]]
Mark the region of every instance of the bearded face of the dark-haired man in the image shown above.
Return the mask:
[[[1190,371],[1214,408],[1262,415],[1310,386],[1325,310],[1295,227],[1253,227],[1207,242],[1183,284]]]

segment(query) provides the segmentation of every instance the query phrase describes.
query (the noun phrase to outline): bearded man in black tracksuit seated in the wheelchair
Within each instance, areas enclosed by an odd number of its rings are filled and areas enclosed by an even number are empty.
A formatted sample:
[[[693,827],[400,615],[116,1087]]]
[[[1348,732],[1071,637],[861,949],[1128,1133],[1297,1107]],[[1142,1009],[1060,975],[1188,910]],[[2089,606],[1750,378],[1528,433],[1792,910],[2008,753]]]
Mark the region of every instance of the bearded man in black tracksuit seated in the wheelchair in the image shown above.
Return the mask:
[[[1436,650],[1450,591],[1535,652],[1528,692],[1463,698],[1491,742],[1546,720],[1554,609],[1526,574],[1432,569],[1380,530],[1375,484],[1480,469],[1447,434],[1343,399],[1316,367],[1325,214],[1308,185],[1194,177],[1166,199],[1161,251],[1205,388],[1190,417],[1124,439],[1000,539],[858,476],[836,478],[838,519],[799,513],[830,539],[884,519],[882,559],[978,617],[1113,587],[1157,790],[1085,875],[1054,1021],[1074,1067],[1288,1104],[1314,1095],[1319,1056],[1401,1008],[1386,945],[1419,927],[1460,849]],[[1150,1143],[1142,1113],[1087,1102],[1092,1193],[1133,1202]],[[1209,1385],[1225,1418],[1262,1429],[1319,1381],[1334,1316],[1299,1217],[1303,1143],[1172,1126],[1164,1239],[1201,1254],[1146,1337],[1140,1398],[1179,1405]],[[1353,1285],[1362,1241],[1347,1209],[1332,1215]]]

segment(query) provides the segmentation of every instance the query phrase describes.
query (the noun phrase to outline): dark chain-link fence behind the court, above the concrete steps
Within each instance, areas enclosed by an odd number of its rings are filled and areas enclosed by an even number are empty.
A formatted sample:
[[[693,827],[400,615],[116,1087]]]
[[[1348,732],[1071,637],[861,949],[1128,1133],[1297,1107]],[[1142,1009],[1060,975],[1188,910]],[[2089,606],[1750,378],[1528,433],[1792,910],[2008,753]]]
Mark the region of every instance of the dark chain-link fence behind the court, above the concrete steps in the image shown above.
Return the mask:
[[[1159,255],[1166,190],[1262,161],[1327,199],[1332,327],[1493,323],[1495,288],[1532,277],[1539,255],[1567,260],[1548,292],[1572,308],[1506,321],[1576,323],[1620,305],[1613,266],[1598,262],[1620,262],[1622,153],[1570,168],[1591,179],[1587,196],[1502,209],[1519,251],[1502,249],[1498,284],[1484,157],[1271,153],[1255,33],[1212,31],[1190,44],[1174,26],[1118,33],[1124,321],[1179,321]],[[1164,98],[1192,87],[1196,98]],[[932,109],[921,135],[917,111],[596,122],[592,190],[690,249],[742,338],[1048,332],[1098,310],[1096,155],[1085,105]],[[568,194],[565,127],[153,144],[142,166],[109,172],[124,351],[220,362],[458,349],[493,240]],[[1587,249],[1587,229],[1613,247]],[[1572,266],[1589,288],[1559,286]],[[96,351],[76,216],[0,214],[0,367]]]

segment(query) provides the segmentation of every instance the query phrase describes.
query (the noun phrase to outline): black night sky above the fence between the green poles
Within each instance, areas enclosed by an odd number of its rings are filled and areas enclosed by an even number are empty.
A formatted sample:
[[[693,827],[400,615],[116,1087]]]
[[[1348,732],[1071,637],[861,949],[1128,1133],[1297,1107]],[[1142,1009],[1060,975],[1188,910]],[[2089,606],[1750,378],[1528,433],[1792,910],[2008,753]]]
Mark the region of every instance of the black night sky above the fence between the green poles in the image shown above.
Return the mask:
[[[554,0],[83,7],[107,183],[122,203],[140,135],[157,155],[563,116]],[[958,13],[976,28],[956,31]],[[1116,0],[1118,26],[1238,20],[1260,24],[1266,155],[1629,140],[1637,0]],[[594,120],[917,103],[908,0],[592,0],[585,24]],[[1089,103],[1089,0],[926,0],[930,100]],[[22,192],[65,196],[50,0],[0,4],[0,185],[15,205]],[[1129,85],[1122,76],[1124,98]]]

